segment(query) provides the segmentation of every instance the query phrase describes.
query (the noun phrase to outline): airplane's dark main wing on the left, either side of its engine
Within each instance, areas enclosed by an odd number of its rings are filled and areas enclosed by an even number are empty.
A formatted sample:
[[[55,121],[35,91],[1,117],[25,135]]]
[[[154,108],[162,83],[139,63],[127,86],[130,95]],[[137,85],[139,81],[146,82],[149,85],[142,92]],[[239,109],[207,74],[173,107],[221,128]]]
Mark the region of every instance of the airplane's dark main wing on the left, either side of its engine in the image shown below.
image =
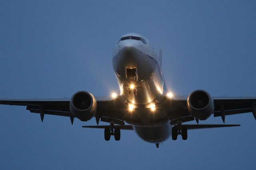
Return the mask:
[[[97,124],[99,119],[102,121],[109,122],[108,117],[112,116],[115,119],[116,124],[123,125],[121,121],[123,115],[118,111],[111,112],[112,106],[117,103],[113,102],[110,96],[95,97],[97,101],[96,120]],[[74,116],[70,113],[70,98],[61,99],[0,99],[1,105],[17,105],[26,106],[26,109],[31,113],[40,113],[43,121],[44,114],[46,115],[57,115],[70,117],[71,123],[73,124]],[[118,107],[117,107],[118,109]],[[97,119],[98,118],[98,119]]]

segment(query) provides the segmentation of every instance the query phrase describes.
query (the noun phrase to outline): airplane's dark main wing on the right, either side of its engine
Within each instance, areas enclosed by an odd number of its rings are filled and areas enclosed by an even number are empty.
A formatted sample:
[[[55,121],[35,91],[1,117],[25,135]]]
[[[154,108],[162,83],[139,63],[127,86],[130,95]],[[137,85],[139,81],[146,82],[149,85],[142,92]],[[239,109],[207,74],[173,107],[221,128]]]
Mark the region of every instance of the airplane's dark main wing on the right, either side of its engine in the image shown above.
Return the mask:
[[[187,109],[187,98],[188,96],[174,96],[170,102],[172,110],[169,111],[168,115],[172,125],[178,123],[179,117],[182,122],[194,120]],[[213,97],[213,100],[214,117],[222,117],[223,122],[226,115],[241,113],[253,113],[256,119],[256,97]]]

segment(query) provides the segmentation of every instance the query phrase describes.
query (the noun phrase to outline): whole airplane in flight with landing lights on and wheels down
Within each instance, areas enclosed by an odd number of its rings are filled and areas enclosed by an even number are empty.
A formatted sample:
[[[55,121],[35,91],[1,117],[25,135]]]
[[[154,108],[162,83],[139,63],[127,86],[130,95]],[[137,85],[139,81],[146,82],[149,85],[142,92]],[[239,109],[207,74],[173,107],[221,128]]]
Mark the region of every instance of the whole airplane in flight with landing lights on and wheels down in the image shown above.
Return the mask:
[[[118,39],[112,63],[120,93],[94,97],[88,91],[78,91],[62,99],[0,99],[2,105],[26,106],[31,113],[70,117],[80,121],[96,119],[95,126],[103,128],[105,140],[114,136],[120,140],[120,130],[134,130],[144,141],[159,147],[172,136],[187,140],[188,130],[200,128],[235,127],[240,125],[201,125],[199,120],[211,115],[253,113],[256,119],[256,97],[212,97],[207,91],[195,90],[188,96],[168,91],[162,73],[162,51],[159,56],[147,38],[129,33]],[[99,122],[110,125],[98,125]],[[183,124],[196,121],[197,124]],[[128,125],[125,125],[127,123]]]

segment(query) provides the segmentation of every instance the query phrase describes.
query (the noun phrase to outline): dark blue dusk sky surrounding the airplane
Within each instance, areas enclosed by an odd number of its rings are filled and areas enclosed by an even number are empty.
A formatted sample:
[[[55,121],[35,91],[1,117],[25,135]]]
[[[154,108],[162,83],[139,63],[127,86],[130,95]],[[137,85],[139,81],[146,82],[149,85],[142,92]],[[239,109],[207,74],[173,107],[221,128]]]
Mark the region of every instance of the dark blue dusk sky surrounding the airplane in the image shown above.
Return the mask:
[[[256,95],[255,1],[0,1],[0,98],[71,97],[118,90],[112,49],[128,32],[163,50],[169,89],[212,96]],[[195,123],[195,122],[191,122]],[[200,123],[221,124],[210,117]],[[188,131],[156,149],[133,131],[105,141],[104,130],[69,118],[0,106],[0,169],[254,169],[256,121]],[[104,125],[104,123],[100,123]]]

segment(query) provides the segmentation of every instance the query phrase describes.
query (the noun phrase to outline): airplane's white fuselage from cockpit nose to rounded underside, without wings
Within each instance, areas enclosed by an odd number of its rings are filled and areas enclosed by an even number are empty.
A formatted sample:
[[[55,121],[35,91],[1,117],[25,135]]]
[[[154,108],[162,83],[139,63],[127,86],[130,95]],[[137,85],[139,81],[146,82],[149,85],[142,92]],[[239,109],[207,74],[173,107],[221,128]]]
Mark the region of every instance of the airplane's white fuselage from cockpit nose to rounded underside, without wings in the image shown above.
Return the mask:
[[[113,52],[113,68],[120,95],[132,107],[125,121],[143,140],[158,143],[168,139],[170,121],[166,112],[158,109],[163,102],[159,97],[167,90],[160,58],[150,42],[140,34],[122,36]]]

